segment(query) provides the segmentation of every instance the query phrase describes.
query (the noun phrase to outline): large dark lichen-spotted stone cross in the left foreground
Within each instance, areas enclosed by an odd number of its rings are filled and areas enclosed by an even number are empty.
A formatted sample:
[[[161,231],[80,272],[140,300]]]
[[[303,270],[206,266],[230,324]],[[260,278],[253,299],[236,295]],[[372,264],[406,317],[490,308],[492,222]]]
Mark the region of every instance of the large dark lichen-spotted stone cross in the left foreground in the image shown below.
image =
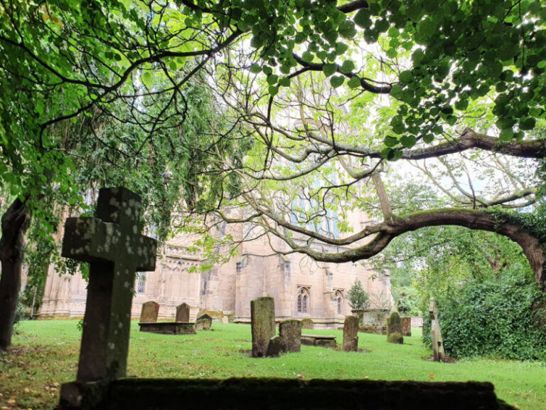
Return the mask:
[[[154,270],[156,241],[139,233],[141,199],[99,191],[97,217],[68,218],[62,256],[90,263],[78,382],[124,377],[136,270]]]

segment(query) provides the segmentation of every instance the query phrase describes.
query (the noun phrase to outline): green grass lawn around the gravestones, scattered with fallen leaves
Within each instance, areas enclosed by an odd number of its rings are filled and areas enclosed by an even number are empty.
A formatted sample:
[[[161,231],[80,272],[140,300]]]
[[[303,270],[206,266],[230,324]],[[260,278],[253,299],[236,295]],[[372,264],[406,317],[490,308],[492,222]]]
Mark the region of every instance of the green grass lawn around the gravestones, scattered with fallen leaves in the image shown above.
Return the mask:
[[[305,379],[385,379],[486,381],[497,395],[520,409],[546,409],[546,364],[475,359],[431,362],[413,329],[404,345],[385,336],[359,333],[363,352],[339,352],[302,346],[301,353],[279,358],[250,357],[250,326],[213,323],[197,335],[154,335],[132,323],[128,374],[137,377],[300,377]],[[59,384],[75,379],[80,331],[75,320],[21,322],[11,354],[0,358],[0,409],[51,409]],[[305,330],[335,335],[341,330]]]

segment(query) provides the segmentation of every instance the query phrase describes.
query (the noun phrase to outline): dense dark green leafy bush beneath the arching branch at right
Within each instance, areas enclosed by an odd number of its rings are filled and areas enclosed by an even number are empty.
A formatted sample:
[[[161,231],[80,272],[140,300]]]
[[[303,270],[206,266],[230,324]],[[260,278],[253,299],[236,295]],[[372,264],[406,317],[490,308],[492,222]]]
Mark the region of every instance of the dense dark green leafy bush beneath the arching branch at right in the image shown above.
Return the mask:
[[[437,299],[446,354],[545,359],[546,330],[537,317],[544,300],[538,285],[522,275],[459,286]],[[432,345],[428,312],[423,341]]]

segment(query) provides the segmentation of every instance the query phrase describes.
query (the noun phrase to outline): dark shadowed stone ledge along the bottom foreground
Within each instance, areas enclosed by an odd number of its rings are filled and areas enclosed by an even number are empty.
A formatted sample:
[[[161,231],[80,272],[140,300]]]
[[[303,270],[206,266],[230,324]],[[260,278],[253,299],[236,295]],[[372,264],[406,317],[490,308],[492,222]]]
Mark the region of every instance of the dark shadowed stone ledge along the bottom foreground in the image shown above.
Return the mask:
[[[508,410],[487,382],[120,379],[82,389],[81,409]],[[67,407],[65,407],[67,409]]]

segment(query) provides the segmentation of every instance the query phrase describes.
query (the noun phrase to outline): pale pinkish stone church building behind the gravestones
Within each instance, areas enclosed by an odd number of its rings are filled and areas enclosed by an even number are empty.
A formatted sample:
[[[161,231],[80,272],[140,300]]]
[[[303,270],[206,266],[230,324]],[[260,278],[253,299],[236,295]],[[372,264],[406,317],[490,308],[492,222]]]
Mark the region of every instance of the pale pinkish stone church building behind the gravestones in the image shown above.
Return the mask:
[[[225,224],[218,229],[225,230]],[[237,238],[250,237],[252,228],[238,224],[229,229]],[[137,273],[133,317],[139,317],[143,303],[154,300],[160,305],[161,320],[174,320],[176,306],[187,303],[190,320],[208,312],[223,322],[250,322],[250,301],[270,296],[277,320],[309,318],[316,327],[336,327],[350,314],[347,293],[355,280],[370,295],[371,308],[390,308],[390,278],[365,263],[321,263],[300,253],[282,255],[273,249],[284,250],[286,244],[261,235],[237,247],[237,255],[228,262],[203,270],[203,256],[191,251],[188,238],[167,241],[161,246],[156,270]],[[86,287],[80,274],[59,275],[51,266],[39,316],[82,317]]]

